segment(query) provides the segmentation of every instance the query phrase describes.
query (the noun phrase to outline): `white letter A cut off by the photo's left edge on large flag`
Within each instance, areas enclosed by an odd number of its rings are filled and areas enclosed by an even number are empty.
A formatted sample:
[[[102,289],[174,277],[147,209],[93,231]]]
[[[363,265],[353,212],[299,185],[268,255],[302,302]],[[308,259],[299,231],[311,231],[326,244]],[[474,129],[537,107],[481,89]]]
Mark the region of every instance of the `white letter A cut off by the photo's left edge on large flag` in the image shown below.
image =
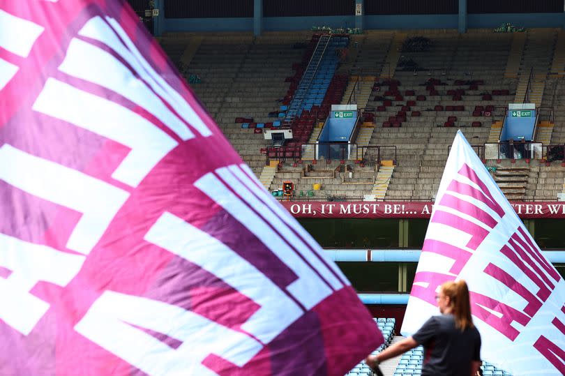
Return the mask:
[[[0,319],[27,336],[49,308],[29,291],[39,281],[66,286],[85,257],[1,233],[0,250],[0,266],[11,271],[8,278],[0,278]]]

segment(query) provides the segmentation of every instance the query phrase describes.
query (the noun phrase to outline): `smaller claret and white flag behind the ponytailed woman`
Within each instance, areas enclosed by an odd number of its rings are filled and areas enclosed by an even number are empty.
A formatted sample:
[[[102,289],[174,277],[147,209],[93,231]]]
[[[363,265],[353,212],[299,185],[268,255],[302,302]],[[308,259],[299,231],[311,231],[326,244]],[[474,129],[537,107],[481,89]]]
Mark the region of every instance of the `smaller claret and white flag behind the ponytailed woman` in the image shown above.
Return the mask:
[[[483,360],[515,376],[565,374],[565,281],[461,131],[439,184],[402,334],[439,315],[437,288],[459,279],[469,285]]]

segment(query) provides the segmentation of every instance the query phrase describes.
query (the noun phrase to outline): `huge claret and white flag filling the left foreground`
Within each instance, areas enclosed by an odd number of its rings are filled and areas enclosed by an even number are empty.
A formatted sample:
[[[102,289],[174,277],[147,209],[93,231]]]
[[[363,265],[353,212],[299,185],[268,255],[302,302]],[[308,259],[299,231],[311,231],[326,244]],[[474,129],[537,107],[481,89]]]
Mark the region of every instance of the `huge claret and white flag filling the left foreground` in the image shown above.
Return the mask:
[[[0,0],[0,375],[344,375],[382,343],[121,0]]]

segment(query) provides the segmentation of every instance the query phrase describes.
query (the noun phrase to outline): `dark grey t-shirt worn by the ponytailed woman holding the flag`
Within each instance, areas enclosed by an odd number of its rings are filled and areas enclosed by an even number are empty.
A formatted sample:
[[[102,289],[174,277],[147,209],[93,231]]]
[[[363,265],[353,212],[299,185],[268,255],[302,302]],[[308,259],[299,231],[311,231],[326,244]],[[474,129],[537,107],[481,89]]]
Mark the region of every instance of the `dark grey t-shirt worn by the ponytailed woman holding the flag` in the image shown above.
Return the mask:
[[[455,329],[453,315],[430,317],[412,338],[424,347],[422,376],[467,376],[471,361],[481,360],[479,331]]]

